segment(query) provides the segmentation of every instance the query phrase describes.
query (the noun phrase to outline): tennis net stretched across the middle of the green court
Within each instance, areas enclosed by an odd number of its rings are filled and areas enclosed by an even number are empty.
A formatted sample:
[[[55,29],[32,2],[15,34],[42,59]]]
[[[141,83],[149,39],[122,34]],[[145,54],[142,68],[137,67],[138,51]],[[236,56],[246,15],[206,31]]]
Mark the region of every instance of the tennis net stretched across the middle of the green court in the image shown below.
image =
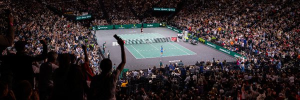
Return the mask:
[[[124,41],[125,41],[124,44],[169,42],[171,41],[171,37],[148,38],[148,39],[125,39]]]

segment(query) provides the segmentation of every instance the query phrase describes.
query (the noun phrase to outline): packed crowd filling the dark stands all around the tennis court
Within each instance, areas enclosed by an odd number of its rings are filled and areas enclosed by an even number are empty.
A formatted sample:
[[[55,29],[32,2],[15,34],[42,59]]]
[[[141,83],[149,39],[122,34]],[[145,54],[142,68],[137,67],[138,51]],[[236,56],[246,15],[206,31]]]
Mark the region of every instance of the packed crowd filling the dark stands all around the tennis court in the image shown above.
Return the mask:
[[[136,3],[133,9],[137,10],[139,1],[103,2],[112,24],[140,23],[130,8],[124,7]],[[111,65],[108,59],[101,62],[108,68],[99,64],[100,47],[82,23],[58,16],[38,1],[1,3],[12,9],[14,19],[7,22],[5,11],[0,12],[1,33],[15,31],[15,36],[12,46],[5,47],[0,56],[0,99],[97,99],[103,95],[110,96],[107,99],[300,99],[299,1],[187,0],[167,23],[246,59],[236,58],[233,65],[214,58],[194,65],[161,62],[157,68],[123,73],[123,59],[122,67]],[[164,18],[145,18],[144,22]],[[96,18],[90,24],[105,25],[107,21]],[[15,30],[11,30],[13,26]],[[123,50],[121,45],[125,58]],[[99,72],[98,67],[104,71]],[[118,79],[118,74],[122,78]],[[106,75],[113,79],[97,80]],[[110,92],[99,89],[97,83]]]

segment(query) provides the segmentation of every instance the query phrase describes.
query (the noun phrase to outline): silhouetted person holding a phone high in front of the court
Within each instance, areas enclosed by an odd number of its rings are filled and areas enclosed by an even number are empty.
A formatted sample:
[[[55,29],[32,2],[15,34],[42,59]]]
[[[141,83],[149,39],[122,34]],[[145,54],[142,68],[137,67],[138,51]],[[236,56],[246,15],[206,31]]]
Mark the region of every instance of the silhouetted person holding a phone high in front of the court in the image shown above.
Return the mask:
[[[92,99],[116,99],[116,80],[124,68],[126,58],[123,40],[120,37],[117,37],[116,34],[114,37],[120,45],[122,61],[112,73],[110,73],[112,66],[110,59],[105,58],[100,62],[100,68],[102,69],[102,72],[99,75],[95,75],[90,83]]]

